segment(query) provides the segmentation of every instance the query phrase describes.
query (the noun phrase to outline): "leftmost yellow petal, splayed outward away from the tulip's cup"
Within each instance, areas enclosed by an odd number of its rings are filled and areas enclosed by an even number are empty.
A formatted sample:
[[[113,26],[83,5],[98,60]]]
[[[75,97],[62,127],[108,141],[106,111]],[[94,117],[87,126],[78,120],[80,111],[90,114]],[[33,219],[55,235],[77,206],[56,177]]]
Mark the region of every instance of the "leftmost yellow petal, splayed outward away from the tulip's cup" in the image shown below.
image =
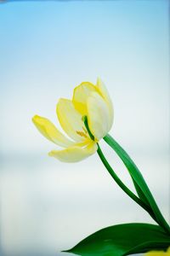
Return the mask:
[[[47,137],[49,141],[65,148],[73,144],[73,142],[67,139],[48,119],[35,115],[32,118],[32,122],[36,125],[37,130],[40,131],[44,137]]]

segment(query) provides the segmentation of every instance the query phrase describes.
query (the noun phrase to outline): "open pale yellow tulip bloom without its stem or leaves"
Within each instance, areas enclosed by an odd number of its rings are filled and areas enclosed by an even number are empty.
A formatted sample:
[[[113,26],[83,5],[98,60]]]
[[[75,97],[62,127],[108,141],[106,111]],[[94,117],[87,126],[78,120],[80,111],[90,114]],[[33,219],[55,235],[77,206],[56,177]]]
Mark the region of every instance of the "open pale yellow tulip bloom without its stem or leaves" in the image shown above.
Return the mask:
[[[35,115],[32,121],[44,137],[64,148],[49,152],[64,162],[77,162],[94,154],[99,140],[111,130],[113,123],[111,98],[100,79],[96,85],[89,82],[78,85],[72,100],[60,98],[56,113],[67,137],[44,117]]]

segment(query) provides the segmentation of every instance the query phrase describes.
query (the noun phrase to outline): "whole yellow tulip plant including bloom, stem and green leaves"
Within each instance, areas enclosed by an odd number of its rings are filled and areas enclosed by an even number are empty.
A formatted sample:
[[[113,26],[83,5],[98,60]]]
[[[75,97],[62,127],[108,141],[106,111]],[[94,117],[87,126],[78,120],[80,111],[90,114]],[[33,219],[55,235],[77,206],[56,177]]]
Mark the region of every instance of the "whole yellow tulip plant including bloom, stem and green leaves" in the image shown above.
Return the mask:
[[[113,107],[103,82],[98,79],[95,85],[89,82],[78,85],[73,91],[71,100],[59,99],[56,112],[65,134],[44,117],[35,115],[32,118],[33,123],[44,137],[63,148],[52,150],[49,155],[60,161],[77,162],[97,151],[100,160],[117,185],[148,212],[158,224],[112,225],[86,237],[75,247],[64,252],[78,255],[123,256],[129,255],[129,253],[147,252],[149,248],[150,250],[166,250],[170,243],[170,227],[161,214],[139,168],[121,145],[108,133],[113,123]],[[105,158],[99,145],[99,140],[102,138],[122,160],[132,178],[136,192],[122,182]],[[170,250],[167,252],[150,251],[145,255],[170,256]]]

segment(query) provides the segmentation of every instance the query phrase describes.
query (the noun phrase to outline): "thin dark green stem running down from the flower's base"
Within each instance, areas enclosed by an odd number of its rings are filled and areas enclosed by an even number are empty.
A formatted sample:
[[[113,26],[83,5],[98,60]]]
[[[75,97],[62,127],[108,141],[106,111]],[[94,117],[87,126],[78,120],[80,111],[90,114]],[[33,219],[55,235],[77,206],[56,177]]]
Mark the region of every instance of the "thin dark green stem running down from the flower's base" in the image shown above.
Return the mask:
[[[156,221],[156,218],[153,214],[153,212],[150,211],[150,208],[139,199],[139,197],[137,197],[136,195],[133,194],[133,192],[127,188],[127,186],[122,183],[122,180],[116,175],[116,172],[113,171],[113,169],[111,168],[110,164],[108,163],[108,161],[105,159],[105,155],[103,154],[101,148],[99,147],[98,144],[98,151],[97,153],[99,154],[99,158],[102,161],[102,163],[104,164],[105,168],[107,169],[107,171],[111,174],[111,177],[113,177],[113,179],[115,180],[115,182],[118,184],[118,186],[128,195],[130,196],[133,201],[135,201],[136,203],[139,204],[140,207],[143,207],[145,211],[149,212],[150,216],[152,218],[154,218],[154,220]]]

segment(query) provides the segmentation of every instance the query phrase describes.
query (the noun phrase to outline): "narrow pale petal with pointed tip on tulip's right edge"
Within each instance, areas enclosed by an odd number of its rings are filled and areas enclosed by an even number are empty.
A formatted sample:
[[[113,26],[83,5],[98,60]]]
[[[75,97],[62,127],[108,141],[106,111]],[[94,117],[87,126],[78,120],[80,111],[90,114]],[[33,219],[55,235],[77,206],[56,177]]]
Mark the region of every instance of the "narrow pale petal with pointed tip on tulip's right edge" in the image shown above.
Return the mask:
[[[111,126],[113,125],[113,104],[111,102],[111,97],[105,87],[105,84],[103,83],[103,81],[101,79],[98,78],[97,80],[97,84],[96,84],[97,89],[99,90],[99,93],[101,94],[101,96],[105,99],[105,102],[107,102],[109,111],[110,111],[110,129]],[[110,130],[109,129],[109,130]]]

